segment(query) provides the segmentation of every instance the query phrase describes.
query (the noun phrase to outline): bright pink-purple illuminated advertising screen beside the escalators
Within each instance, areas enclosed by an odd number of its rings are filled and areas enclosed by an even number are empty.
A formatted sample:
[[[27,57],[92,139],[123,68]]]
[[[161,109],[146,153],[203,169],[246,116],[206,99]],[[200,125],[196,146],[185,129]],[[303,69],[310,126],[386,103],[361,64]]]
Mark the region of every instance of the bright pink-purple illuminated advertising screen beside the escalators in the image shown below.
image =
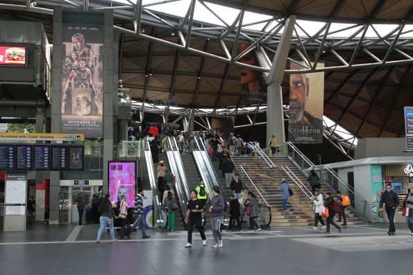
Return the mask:
[[[108,161],[109,195],[112,203],[117,202],[121,195],[126,195],[129,207],[135,202],[136,162]]]

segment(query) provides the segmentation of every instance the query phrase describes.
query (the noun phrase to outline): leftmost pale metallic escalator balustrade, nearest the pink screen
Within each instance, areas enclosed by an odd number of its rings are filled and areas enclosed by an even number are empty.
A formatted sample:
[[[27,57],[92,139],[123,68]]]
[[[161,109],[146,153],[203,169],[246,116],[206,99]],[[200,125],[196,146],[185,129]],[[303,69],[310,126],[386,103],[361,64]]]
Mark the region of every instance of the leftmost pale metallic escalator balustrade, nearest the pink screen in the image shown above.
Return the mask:
[[[158,193],[158,186],[156,184],[156,176],[155,176],[155,168],[153,166],[153,159],[152,159],[152,153],[151,153],[151,146],[149,145],[149,140],[148,139],[142,139],[142,148],[144,148],[144,145],[146,145],[146,148],[142,150],[144,154],[145,161],[147,163],[146,168],[148,169],[148,177],[149,177],[149,184],[151,184],[151,190],[153,194],[153,199],[155,199],[155,206],[153,207],[153,214],[154,217],[158,217],[156,222],[157,225],[160,225],[163,223],[163,218],[162,218],[162,202],[160,202],[159,199],[159,193]]]

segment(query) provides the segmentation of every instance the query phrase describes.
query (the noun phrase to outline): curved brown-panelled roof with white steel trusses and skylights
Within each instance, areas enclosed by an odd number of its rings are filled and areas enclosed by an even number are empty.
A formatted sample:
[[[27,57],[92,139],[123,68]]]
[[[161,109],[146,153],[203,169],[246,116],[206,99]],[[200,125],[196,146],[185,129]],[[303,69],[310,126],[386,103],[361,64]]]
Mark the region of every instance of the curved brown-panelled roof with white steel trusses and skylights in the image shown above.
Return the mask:
[[[307,64],[301,71],[324,71],[324,115],[335,122],[326,129],[330,137],[337,125],[359,138],[402,136],[403,107],[413,105],[412,1],[34,2],[2,1],[0,19],[42,21],[51,40],[53,6],[113,10],[121,33],[119,78],[138,102],[178,100],[180,107],[211,108],[212,114],[239,107],[239,68],[248,66],[240,58],[254,51],[259,62],[248,67],[268,73],[286,19],[296,15],[288,59]],[[174,6],[182,15],[174,14]],[[223,7],[234,12],[230,21]],[[210,21],[202,17],[207,13]],[[241,52],[239,44],[249,46]],[[288,74],[296,71],[285,70],[288,105]]]

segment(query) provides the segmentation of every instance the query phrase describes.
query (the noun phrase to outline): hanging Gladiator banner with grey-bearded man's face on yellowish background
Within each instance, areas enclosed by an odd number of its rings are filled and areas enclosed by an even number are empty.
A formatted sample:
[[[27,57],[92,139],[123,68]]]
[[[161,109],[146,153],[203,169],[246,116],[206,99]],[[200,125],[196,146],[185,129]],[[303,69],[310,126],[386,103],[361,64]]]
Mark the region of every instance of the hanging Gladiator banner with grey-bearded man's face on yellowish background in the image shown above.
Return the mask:
[[[317,67],[323,67],[323,63]],[[304,69],[294,62],[290,69]],[[323,143],[324,73],[289,75],[288,140],[292,143]]]

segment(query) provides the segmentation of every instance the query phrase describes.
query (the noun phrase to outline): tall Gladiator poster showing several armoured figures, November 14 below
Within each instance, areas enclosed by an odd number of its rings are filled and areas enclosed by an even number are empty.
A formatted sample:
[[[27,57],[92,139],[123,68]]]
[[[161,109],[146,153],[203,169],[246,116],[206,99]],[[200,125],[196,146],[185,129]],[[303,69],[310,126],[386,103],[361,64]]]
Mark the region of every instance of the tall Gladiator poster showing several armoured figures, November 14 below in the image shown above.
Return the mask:
[[[103,26],[63,24],[62,133],[103,136]]]

